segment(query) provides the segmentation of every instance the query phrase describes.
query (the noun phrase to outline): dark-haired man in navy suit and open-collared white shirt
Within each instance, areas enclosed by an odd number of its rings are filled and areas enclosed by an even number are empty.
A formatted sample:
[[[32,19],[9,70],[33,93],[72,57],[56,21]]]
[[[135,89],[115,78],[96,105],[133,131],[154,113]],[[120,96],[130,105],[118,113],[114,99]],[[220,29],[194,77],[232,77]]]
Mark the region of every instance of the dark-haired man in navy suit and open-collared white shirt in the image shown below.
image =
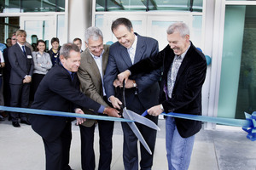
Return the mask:
[[[131,21],[119,18],[113,21],[112,31],[118,42],[113,43],[109,49],[108,65],[104,76],[104,86],[108,99],[114,108],[120,109],[121,99],[114,97],[115,89],[113,82],[117,75],[141,59],[148,58],[158,53],[158,42],[153,38],[142,37],[133,31]],[[132,76],[125,84],[125,100],[127,109],[142,114],[143,111],[158,104],[157,96],[160,88],[158,81],[160,70],[146,74]],[[116,86],[118,81],[114,82]],[[153,122],[158,122],[158,117],[147,116]],[[156,131],[142,124],[137,127],[143,134],[150,150],[154,153]],[[137,137],[131,131],[127,123],[122,123],[124,132],[123,161],[125,169],[138,169]],[[141,169],[151,169],[153,154],[148,154],[143,145],[141,149]]]

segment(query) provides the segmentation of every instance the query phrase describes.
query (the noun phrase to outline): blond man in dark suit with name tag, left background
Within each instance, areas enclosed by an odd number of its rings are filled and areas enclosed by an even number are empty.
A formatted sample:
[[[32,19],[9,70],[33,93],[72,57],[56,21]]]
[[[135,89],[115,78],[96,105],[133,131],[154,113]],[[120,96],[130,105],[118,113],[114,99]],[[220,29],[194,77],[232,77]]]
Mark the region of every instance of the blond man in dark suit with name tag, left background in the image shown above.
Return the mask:
[[[8,59],[11,65],[9,87],[11,91],[10,106],[12,107],[28,107],[30,84],[34,63],[30,48],[25,46],[26,31],[16,31],[17,43],[9,48]],[[20,127],[18,122],[30,125],[26,114],[10,112],[10,116],[14,127]]]

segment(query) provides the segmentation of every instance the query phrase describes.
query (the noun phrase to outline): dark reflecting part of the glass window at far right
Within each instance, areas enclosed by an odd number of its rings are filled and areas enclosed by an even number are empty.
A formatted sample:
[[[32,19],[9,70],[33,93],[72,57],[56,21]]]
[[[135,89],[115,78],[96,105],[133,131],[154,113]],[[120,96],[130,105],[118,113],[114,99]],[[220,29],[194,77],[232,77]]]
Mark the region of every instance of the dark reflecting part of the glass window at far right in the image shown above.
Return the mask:
[[[256,111],[256,7],[247,6],[241,50],[239,88],[236,118],[244,118],[243,112]]]

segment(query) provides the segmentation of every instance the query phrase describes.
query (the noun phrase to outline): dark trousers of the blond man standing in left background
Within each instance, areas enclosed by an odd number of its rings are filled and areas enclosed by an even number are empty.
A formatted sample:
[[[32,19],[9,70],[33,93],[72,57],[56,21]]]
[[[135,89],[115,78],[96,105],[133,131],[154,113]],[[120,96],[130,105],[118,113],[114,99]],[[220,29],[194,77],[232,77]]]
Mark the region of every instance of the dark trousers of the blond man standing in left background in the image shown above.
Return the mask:
[[[10,106],[27,108],[29,104],[30,83],[9,84],[9,87],[11,90]],[[20,120],[27,120],[27,115],[24,113],[10,112],[10,116],[12,117],[12,122],[18,122],[19,117]]]

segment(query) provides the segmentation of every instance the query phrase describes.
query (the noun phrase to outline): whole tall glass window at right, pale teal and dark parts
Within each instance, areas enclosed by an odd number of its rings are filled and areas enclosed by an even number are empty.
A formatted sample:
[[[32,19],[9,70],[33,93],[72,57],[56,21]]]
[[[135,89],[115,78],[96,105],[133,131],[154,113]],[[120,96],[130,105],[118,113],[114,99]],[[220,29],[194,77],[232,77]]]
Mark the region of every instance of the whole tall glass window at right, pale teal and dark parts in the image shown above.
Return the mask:
[[[245,118],[256,110],[256,6],[225,9],[218,116]]]

